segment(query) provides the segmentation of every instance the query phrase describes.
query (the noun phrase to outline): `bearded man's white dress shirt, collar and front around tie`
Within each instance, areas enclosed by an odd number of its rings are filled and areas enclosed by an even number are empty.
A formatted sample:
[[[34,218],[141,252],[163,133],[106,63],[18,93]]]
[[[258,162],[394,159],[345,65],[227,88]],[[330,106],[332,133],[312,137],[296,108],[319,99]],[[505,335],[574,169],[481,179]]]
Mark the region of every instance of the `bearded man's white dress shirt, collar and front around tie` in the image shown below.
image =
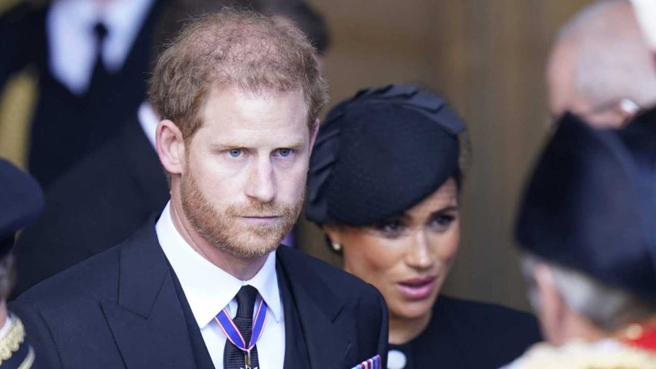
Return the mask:
[[[237,314],[234,298],[241,286],[250,284],[260,293],[266,305],[264,332],[257,341],[260,369],[282,369],[285,358],[285,314],[278,289],[276,252],[270,253],[262,269],[250,280],[239,280],[216,267],[197,253],[180,235],[171,219],[171,202],[155,225],[157,239],[169,259],[201,330],[215,368],[223,368],[226,335],[214,319],[227,307],[230,316]],[[254,312],[255,315],[255,312]]]

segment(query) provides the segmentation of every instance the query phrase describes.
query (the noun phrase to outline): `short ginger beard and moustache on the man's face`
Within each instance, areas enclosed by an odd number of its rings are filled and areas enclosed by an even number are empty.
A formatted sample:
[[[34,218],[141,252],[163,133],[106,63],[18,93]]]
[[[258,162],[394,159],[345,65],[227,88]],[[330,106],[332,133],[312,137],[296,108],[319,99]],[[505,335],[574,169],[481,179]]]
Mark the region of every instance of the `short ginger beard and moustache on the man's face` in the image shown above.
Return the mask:
[[[251,258],[276,250],[300,215],[305,188],[292,206],[249,199],[249,204],[233,204],[217,209],[203,194],[194,171],[189,171],[188,175],[182,177],[180,195],[182,209],[189,223],[209,244],[236,257]],[[279,219],[270,224],[249,225],[240,219],[245,216],[276,216]]]

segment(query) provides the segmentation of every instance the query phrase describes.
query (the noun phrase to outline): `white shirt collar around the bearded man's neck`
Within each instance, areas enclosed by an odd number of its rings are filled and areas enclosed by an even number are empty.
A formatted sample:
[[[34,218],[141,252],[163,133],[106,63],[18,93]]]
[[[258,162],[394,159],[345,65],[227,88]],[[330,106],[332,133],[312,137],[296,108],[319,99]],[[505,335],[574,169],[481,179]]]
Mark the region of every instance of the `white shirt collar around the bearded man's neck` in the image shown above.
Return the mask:
[[[276,251],[269,254],[262,268],[250,280],[239,280],[197,253],[180,235],[171,219],[171,202],[155,225],[157,238],[200,328],[204,328],[234,299],[241,286],[250,284],[268,305],[277,322],[282,307],[276,274]]]

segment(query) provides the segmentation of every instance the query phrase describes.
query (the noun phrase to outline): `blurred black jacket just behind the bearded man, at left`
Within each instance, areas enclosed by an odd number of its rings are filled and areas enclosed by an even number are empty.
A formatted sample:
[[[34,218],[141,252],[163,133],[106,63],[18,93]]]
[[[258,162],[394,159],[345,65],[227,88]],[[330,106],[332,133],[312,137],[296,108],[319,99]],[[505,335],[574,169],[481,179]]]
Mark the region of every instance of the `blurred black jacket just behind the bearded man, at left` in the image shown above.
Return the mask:
[[[164,171],[135,114],[47,191],[43,214],[16,240],[14,297],[125,240],[168,200]]]

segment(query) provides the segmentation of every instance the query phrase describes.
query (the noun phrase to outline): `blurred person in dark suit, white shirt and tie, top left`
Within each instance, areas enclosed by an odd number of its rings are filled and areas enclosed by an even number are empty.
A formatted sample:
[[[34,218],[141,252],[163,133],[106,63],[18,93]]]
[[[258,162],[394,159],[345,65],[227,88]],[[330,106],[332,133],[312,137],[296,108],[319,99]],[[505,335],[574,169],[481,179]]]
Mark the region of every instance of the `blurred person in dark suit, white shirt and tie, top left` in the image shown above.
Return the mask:
[[[26,66],[38,78],[26,154],[44,188],[118,133],[144,100],[165,1],[24,1],[0,18],[0,87]]]

